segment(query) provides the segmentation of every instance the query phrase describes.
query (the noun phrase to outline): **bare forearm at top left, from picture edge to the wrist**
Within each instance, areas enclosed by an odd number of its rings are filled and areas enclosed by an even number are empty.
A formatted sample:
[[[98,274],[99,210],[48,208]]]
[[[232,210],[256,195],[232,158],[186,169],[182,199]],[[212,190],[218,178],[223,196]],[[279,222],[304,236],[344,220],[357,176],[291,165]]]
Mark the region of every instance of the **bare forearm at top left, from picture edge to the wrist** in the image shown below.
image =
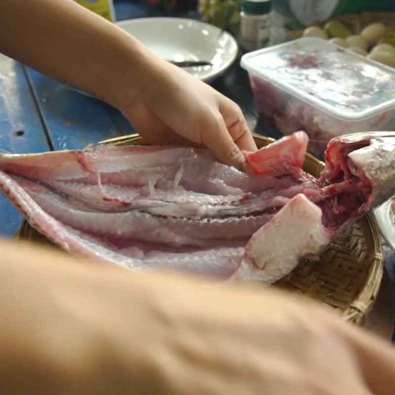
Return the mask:
[[[150,56],[72,0],[0,0],[0,51],[118,108],[141,89]]]

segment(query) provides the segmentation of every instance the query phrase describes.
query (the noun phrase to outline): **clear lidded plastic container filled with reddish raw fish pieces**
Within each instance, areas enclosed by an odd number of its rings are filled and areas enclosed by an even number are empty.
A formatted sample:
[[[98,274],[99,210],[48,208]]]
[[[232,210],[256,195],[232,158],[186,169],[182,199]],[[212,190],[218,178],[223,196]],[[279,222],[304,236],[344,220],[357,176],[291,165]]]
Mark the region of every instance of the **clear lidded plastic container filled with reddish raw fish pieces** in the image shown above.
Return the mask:
[[[347,133],[395,130],[395,69],[316,38],[241,58],[259,114],[282,134],[304,130],[323,157]]]

